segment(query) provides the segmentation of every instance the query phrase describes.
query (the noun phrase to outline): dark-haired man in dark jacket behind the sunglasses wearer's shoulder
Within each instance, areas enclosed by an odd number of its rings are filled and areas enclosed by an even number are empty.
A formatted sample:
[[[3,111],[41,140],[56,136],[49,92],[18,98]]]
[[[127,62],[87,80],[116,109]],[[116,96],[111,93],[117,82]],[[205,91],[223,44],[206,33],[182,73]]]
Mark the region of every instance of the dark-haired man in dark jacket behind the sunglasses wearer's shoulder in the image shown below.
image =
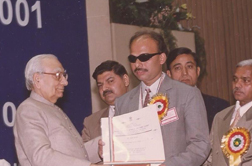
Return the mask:
[[[172,50],[167,57],[167,75],[174,80],[196,86],[200,76],[199,59],[190,49],[180,47]],[[215,114],[229,106],[226,100],[202,93],[207,110],[208,126],[211,129]]]

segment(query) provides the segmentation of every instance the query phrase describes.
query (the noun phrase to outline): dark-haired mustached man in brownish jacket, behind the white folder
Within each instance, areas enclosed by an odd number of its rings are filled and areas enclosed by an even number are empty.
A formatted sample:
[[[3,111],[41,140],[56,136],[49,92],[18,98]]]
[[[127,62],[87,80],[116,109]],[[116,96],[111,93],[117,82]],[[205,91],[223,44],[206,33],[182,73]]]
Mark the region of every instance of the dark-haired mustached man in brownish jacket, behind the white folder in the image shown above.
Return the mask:
[[[115,99],[127,92],[129,76],[123,65],[116,61],[105,61],[96,67],[92,77],[96,80],[101,99],[108,107],[84,119],[82,138],[84,142],[101,135],[101,118],[114,116]]]

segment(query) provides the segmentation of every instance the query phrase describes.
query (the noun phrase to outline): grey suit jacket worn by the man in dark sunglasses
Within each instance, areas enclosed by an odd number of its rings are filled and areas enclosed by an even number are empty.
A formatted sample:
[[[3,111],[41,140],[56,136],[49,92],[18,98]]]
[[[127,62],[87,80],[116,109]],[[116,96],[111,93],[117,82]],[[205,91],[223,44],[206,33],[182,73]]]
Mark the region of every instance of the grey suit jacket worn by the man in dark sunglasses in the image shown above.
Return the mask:
[[[196,87],[165,76],[159,92],[167,95],[169,108],[179,119],[161,126],[166,166],[199,166],[210,151],[206,108]],[[138,109],[140,85],[116,100],[116,115]]]

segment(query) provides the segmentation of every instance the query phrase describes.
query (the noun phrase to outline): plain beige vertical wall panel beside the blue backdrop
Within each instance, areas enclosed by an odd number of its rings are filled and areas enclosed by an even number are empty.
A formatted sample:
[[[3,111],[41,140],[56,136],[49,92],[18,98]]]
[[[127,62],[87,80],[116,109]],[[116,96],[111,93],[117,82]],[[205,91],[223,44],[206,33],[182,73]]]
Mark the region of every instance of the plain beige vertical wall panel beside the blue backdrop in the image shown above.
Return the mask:
[[[92,112],[96,112],[106,105],[100,99],[92,74],[101,62],[112,59],[108,0],[86,0],[86,9]]]

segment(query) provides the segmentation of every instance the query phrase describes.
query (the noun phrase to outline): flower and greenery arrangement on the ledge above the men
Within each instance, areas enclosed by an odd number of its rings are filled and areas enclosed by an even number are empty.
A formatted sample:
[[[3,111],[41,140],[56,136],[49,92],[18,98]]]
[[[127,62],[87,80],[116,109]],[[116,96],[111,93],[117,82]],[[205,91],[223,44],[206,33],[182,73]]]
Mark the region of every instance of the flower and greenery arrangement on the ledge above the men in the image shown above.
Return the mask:
[[[200,60],[200,78],[206,74],[206,52],[204,40],[195,28],[183,27],[182,21],[195,19],[186,4],[175,4],[174,0],[110,0],[111,22],[160,28],[169,50],[177,47],[171,30],[195,34],[196,55]]]

